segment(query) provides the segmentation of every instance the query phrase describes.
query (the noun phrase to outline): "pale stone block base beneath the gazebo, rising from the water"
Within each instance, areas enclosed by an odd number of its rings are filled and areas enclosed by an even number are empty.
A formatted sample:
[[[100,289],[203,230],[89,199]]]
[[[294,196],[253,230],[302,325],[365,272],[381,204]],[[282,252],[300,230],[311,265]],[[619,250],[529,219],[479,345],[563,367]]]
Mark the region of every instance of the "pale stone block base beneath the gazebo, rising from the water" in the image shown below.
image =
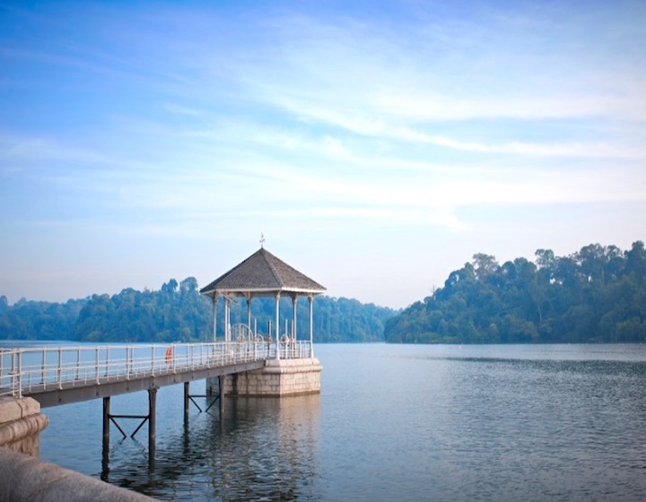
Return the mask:
[[[319,359],[267,359],[265,368],[222,377],[223,395],[283,397],[320,393]],[[206,380],[207,394],[220,394],[217,378]]]

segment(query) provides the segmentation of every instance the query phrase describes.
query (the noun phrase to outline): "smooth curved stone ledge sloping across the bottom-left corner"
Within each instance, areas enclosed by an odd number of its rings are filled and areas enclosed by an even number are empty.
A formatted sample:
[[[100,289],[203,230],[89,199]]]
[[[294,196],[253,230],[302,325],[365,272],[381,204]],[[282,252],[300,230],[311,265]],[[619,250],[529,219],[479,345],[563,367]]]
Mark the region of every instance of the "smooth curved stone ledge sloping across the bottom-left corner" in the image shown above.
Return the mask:
[[[146,502],[153,498],[0,448],[0,502]]]

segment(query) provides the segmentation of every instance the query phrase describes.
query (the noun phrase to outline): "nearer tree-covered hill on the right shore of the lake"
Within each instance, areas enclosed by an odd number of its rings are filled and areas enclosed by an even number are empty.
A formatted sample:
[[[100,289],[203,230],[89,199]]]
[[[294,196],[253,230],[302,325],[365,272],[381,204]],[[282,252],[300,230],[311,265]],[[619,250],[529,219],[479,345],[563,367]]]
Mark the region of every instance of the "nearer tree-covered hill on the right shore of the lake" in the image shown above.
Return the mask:
[[[568,256],[538,249],[502,265],[492,255],[388,320],[387,342],[646,342],[646,250],[592,244]]]

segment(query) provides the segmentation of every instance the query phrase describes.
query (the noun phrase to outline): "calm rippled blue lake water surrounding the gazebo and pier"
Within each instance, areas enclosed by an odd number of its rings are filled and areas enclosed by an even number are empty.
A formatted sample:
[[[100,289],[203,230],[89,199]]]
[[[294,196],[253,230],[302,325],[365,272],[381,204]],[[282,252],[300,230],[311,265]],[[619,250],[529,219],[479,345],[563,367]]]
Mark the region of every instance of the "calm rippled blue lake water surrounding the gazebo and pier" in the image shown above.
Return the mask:
[[[154,466],[145,426],[113,426],[104,458],[100,400],[45,409],[41,457],[163,500],[646,500],[646,345],[316,355],[320,395],[227,398],[188,423],[182,385],[163,387]],[[145,414],[147,394],[111,412]]]

